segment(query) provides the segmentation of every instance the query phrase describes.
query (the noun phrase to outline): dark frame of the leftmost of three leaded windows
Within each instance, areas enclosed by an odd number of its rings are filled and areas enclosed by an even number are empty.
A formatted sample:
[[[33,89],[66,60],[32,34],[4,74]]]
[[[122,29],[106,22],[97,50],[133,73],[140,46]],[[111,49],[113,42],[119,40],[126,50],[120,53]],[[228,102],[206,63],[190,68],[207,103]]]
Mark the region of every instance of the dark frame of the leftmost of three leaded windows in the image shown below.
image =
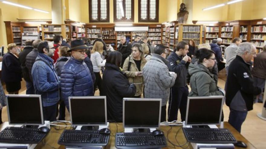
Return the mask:
[[[101,20],[101,0],[98,0],[98,20],[92,19],[92,0],[89,0],[89,23],[105,22],[110,23],[110,2],[106,0],[106,20]]]

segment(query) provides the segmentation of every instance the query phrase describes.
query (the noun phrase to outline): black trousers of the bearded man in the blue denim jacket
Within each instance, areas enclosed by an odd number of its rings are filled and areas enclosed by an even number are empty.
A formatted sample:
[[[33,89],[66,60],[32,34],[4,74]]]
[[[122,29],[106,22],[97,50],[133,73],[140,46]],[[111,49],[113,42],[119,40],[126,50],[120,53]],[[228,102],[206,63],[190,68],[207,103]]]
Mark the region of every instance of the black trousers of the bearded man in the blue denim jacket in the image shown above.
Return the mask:
[[[49,120],[50,122],[55,121],[56,109],[57,109],[57,104],[48,107],[43,107],[44,120]]]

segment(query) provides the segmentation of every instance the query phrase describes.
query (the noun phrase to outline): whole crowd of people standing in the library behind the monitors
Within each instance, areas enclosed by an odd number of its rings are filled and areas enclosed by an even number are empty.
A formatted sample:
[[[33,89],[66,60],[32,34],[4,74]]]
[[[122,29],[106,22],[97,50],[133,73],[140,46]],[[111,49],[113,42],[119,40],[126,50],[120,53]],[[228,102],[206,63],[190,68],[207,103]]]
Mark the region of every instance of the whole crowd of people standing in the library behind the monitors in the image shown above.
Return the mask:
[[[224,61],[220,38],[198,47],[192,39],[189,43],[181,41],[170,54],[164,45],[154,45],[151,39],[138,35],[132,44],[121,36],[117,51],[105,44],[101,34],[93,43],[86,38],[70,44],[62,36],[53,39],[27,40],[19,55],[17,45],[8,44],[2,60],[1,77],[8,94],[18,94],[23,76],[26,94],[41,95],[44,120],[55,121],[58,115],[59,120],[64,120],[70,96],[94,96],[96,90],[106,96],[107,119],[115,122],[122,122],[125,97],[161,98],[164,122],[177,120],[178,110],[184,121],[190,96],[223,95],[230,108],[229,123],[241,132],[254,97],[262,100],[266,46],[256,54],[255,46],[241,43],[240,38],[234,38],[225,49],[225,91],[217,87],[218,71]],[[1,86],[1,109],[5,105]]]

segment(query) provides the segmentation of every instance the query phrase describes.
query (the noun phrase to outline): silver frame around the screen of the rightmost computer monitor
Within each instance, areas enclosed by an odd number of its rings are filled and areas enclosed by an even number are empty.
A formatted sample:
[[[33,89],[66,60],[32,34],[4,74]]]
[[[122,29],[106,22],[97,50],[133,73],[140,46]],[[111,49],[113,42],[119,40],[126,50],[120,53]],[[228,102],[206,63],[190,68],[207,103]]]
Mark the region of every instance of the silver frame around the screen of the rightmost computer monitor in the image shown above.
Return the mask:
[[[220,116],[219,116],[219,123],[204,123],[204,124],[188,124],[188,123],[187,123],[190,99],[192,99],[192,100],[197,100],[197,99],[200,100],[200,99],[217,99],[217,98],[222,98],[222,101],[221,101],[221,110],[220,110]],[[225,99],[224,96],[200,96],[200,97],[188,97],[188,98],[187,98],[187,111],[186,111],[185,125],[191,125],[191,126],[220,125],[220,124],[221,124],[222,107],[223,107],[223,104],[224,104],[224,99]]]

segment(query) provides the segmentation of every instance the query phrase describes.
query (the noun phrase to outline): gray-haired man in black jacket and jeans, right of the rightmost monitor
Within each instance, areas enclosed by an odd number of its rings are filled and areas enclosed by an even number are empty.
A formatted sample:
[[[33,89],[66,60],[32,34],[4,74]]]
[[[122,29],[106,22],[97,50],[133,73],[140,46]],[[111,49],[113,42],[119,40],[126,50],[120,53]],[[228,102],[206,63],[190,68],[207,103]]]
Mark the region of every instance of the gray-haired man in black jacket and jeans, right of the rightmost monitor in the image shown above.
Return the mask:
[[[225,103],[230,108],[228,122],[240,133],[248,111],[253,109],[253,96],[259,95],[261,89],[253,86],[249,64],[256,57],[255,46],[241,43],[236,54],[228,69]]]

